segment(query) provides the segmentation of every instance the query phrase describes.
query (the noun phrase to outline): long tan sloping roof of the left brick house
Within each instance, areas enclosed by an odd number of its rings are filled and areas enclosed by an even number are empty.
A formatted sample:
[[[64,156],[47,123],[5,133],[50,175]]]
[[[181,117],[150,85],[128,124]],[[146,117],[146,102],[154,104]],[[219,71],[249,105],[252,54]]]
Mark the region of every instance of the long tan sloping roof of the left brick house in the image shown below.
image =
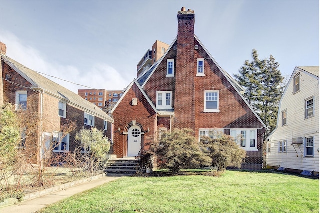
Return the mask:
[[[44,90],[45,93],[53,95],[60,100],[63,100],[71,105],[74,105],[87,113],[97,115],[102,119],[113,122],[113,119],[96,105],[83,99],[78,94],[66,89],[65,87],[51,81],[50,79],[40,75],[39,73],[27,68],[17,61],[1,54],[1,59],[8,64],[12,69],[19,73],[23,78],[32,84],[32,89]]]

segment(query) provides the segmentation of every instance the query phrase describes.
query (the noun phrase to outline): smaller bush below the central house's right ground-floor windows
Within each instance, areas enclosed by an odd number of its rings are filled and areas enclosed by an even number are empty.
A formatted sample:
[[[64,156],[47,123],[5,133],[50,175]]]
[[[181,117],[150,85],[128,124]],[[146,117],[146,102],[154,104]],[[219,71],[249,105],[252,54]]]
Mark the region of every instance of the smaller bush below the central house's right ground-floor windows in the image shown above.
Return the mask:
[[[216,138],[201,138],[203,151],[212,159],[211,168],[223,171],[226,167],[241,167],[246,156],[245,150],[237,145],[229,135]]]

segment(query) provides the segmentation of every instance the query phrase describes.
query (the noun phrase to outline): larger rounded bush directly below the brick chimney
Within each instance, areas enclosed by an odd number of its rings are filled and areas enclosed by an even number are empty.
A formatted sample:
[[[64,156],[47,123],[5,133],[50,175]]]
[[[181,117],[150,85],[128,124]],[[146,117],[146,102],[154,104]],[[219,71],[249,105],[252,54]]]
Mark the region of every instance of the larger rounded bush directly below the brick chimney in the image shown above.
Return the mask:
[[[151,150],[157,155],[158,166],[173,173],[180,169],[208,166],[212,160],[201,150],[192,129],[173,129],[164,132],[159,140],[151,144]]]

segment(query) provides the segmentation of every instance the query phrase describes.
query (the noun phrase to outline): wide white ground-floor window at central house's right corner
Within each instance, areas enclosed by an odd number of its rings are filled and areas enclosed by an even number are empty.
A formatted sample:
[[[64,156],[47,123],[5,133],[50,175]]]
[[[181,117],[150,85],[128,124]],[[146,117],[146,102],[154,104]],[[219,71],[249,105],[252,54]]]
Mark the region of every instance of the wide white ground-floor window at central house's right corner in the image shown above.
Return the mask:
[[[257,129],[230,129],[230,136],[244,150],[257,151]]]

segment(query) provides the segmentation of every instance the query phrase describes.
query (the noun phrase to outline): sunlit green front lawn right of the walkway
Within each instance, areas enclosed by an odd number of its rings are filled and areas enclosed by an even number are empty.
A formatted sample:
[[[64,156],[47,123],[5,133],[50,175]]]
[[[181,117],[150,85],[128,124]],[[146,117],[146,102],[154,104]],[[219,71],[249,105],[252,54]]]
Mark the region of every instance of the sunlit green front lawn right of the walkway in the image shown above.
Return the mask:
[[[319,212],[319,180],[226,171],[220,177],[122,177],[38,213]]]

